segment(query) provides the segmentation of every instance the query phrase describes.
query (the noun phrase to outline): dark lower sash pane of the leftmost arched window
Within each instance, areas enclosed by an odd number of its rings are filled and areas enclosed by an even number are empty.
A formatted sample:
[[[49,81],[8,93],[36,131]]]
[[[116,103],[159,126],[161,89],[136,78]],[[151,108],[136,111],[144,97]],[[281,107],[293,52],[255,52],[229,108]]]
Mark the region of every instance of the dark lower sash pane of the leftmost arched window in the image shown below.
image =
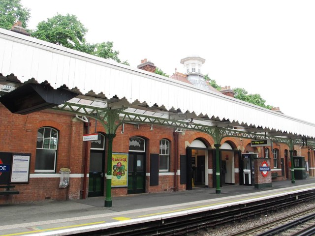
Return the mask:
[[[55,171],[56,150],[37,149],[35,170]]]

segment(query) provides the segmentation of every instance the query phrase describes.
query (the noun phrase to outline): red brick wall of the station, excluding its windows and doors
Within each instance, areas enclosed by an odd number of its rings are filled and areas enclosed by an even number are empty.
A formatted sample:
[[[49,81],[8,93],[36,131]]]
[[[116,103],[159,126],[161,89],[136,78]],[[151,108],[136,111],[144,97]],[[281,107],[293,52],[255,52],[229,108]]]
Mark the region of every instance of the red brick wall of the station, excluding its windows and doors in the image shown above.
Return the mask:
[[[90,163],[90,143],[82,142],[82,136],[86,132],[82,121],[74,118],[74,115],[53,112],[51,110],[36,112],[29,115],[15,115],[10,113],[6,108],[0,104],[0,151],[2,152],[27,152],[31,153],[30,163],[30,182],[27,184],[16,184],[16,189],[20,191],[19,195],[0,196],[0,204],[3,203],[22,203],[29,201],[42,201],[45,199],[77,199],[82,197],[83,190],[83,175],[85,167],[85,156],[87,157],[87,170],[89,172]],[[59,130],[59,143],[57,155],[57,167],[54,177],[36,177],[34,174],[35,158],[36,158],[36,140],[37,130],[43,126],[50,126]],[[150,153],[159,153],[159,141],[163,138],[170,141],[170,169],[169,175],[159,176],[159,185],[150,186],[150,176],[146,177],[146,192],[163,192],[173,191],[175,187],[175,177],[177,170],[180,170],[180,155],[186,155],[186,148],[195,139],[202,140],[207,148],[214,148],[213,138],[206,133],[186,130],[184,133],[178,134],[178,153],[175,158],[175,128],[166,126],[149,124],[126,124],[124,133],[121,133],[122,126],[116,132],[116,137],[113,141],[113,152],[128,152],[129,138],[132,136],[140,136],[146,139],[146,173],[150,173]],[[95,120],[91,119],[90,133],[101,132],[106,133],[102,124],[98,121],[95,129]],[[234,150],[241,150],[242,153],[246,151],[253,151],[258,153],[259,157],[264,156],[263,148],[251,148],[249,139],[239,139],[226,137],[223,138],[221,144],[228,142]],[[88,145],[88,153],[85,153],[85,145]],[[279,149],[279,163],[280,158],[284,158],[284,150],[289,149],[287,145],[282,143],[274,143],[274,148]],[[270,147],[269,147],[270,148]],[[298,155],[305,156],[307,161],[308,149],[302,149],[295,146]],[[107,157],[107,156],[106,156]],[[208,169],[213,169],[213,151],[208,151]],[[273,153],[270,148],[270,165],[273,169]],[[177,170],[175,170],[175,161],[177,161]],[[106,165],[106,161],[105,161]],[[239,168],[239,156],[234,152],[234,168]],[[315,165],[315,153],[311,151],[312,168]],[[66,189],[59,189],[60,168],[70,168],[71,175],[70,185]],[[106,168],[105,168],[106,172]],[[277,171],[281,175],[281,171]],[[37,176],[39,176],[38,174]],[[311,176],[315,176],[315,170],[311,169]],[[43,176],[43,175],[41,175]],[[278,177],[279,178],[279,177]],[[280,179],[284,179],[281,177]],[[86,191],[88,191],[88,181]],[[213,187],[213,174],[208,175],[208,186]],[[106,182],[105,182],[106,183]],[[239,173],[235,172],[235,184],[239,183]],[[177,176],[177,188],[179,191],[186,190],[186,184],[180,184],[180,176]],[[106,184],[105,184],[106,186]],[[104,188],[105,191],[105,188]],[[126,195],[127,188],[112,188],[112,196]],[[105,195],[105,194],[104,194]]]

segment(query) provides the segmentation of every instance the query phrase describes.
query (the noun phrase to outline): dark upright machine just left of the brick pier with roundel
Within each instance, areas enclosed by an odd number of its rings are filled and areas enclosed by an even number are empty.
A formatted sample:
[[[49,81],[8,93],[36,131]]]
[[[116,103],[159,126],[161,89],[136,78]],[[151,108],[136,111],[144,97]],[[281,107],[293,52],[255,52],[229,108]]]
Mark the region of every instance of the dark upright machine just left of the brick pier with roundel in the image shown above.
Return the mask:
[[[243,184],[253,185],[254,181],[254,159],[258,158],[256,153],[244,153],[242,154],[242,165],[243,165]],[[240,173],[241,174],[241,173]]]

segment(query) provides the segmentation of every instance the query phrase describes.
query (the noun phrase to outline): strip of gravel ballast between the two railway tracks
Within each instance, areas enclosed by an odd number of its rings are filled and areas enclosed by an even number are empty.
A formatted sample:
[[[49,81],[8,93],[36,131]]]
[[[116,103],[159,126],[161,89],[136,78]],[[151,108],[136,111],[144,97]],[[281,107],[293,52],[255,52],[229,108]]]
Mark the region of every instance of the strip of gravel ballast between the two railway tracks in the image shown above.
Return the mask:
[[[314,206],[315,201],[304,202],[295,206],[280,209],[277,212],[269,213],[268,215],[257,216],[256,218],[244,220],[243,222],[231,223],[230,225],[224,225],[215,229],[201,229],[198,232],[189,233],[188,236],[228,236]]]

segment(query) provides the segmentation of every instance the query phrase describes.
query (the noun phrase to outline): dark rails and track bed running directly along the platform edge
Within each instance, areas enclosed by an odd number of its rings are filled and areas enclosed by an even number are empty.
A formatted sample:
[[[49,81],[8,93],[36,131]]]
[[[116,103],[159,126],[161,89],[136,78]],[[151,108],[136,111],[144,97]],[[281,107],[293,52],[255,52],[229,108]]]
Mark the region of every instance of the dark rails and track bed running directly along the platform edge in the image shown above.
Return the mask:
[[[245,219],[261,216],[279,209],[293,206],[302,202],[315,200],[315,190],[289,194],[282,197],[270,198],[237,206],[200,211],[180,217],[170,217],[147,223],[126,225],[124,227],[81,233],[80,236],[174,236],[187,235],[198,230],[223,226]],[[239,235],[239,233],[237,234]]]

